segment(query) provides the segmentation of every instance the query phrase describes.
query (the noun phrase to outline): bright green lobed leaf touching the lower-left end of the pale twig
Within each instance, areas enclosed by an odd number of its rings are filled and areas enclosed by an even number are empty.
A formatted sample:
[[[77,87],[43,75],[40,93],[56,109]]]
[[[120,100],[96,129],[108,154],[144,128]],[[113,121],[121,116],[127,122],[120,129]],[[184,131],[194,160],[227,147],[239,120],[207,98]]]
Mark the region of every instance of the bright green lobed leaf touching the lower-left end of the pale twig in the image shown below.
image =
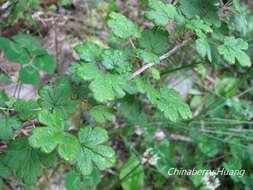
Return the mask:
[[[123,86],[126,81],[119,75],[101,75],[90,83],[94,98],[99,102],[107,102],[125,96]]]

